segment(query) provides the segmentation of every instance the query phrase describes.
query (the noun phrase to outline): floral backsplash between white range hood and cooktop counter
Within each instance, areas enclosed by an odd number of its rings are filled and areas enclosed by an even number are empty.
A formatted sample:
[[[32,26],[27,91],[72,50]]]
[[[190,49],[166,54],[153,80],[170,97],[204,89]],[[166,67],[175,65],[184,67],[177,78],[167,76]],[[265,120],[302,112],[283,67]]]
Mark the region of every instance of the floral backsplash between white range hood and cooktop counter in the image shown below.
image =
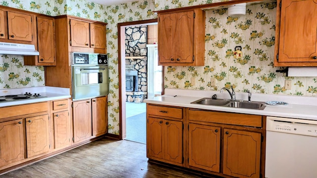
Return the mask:
[[[24,66],[23,56],[0,54],[0,89],[45,86],[43,66]]]

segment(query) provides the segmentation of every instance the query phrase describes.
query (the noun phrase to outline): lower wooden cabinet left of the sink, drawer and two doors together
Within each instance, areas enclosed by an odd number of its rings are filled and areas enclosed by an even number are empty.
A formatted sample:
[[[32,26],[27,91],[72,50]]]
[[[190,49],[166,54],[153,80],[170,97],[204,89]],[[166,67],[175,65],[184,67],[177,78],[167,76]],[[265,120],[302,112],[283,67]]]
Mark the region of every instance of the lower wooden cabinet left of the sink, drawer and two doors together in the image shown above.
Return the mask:
[[[182,108],[147,105],[147,157],[183,165]]]

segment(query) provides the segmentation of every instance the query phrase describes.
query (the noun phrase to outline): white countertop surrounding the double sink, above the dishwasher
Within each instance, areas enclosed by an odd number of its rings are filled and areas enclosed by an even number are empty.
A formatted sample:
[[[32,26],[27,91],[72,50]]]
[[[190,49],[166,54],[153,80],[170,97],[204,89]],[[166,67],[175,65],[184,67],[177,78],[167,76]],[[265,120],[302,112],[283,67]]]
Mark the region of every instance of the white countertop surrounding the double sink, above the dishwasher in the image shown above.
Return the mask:
[[[180,106],[197,109],[208,109],[213,111],[225,111],[233,113],[243,114],[256,114],[263,116],[275,116],[275,117],[286,117],[296,119],[309,119],[317,120],[317,97],[304,97],[304,96],[276,96],[270,94],[253,94],[252,101],[271,101],[278,100],[288,102],[287,106],[270,106],[266,104],[264,110],[256,109],[244,109],[244,108],[231,108],[224,106],[211,106],[202,104],[191,104],[191,102],[201,99],[203,97],[211,97],[212,94],[219,94],[218,98],[229,99],[229,94],[226,92],[219,93],[219,91],[202,92],[197,91],[186,91],[186,90],[165,90],[165,95],[156,96],[153,98],[145,99],[144,102],[152,104],[162,104],[170,106]],[[225,95],[223,95],[225,94]],[[176,95],[176,96],[175,96]],[[237,93],[236,97],[238,100],[247,100],[247,93]]]

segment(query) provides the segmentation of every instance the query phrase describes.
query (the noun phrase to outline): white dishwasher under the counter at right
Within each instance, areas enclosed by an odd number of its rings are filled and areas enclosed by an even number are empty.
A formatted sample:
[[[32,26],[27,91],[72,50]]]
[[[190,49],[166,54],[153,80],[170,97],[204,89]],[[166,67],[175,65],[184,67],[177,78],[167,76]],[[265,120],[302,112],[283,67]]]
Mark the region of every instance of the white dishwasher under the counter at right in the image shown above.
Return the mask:
[[[266,117],[265,178],[317,178],[317,121]]]

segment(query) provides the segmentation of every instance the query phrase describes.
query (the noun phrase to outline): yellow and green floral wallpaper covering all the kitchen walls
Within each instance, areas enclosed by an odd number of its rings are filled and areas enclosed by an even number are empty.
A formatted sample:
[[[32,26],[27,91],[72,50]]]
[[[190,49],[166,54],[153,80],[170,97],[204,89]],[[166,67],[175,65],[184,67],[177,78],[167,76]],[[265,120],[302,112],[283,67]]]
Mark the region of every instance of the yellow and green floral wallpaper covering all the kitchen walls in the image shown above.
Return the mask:
[[[157,15],[153,11],[156,10],[220,1],[227,0],[140,0],[111,6],[87,0],[0,0],[0,4],[52,16],[69,14],[108,23],[108,132],[119,134],[117,24],[155,19]],[[248,89],[257,93],[316,96],[317,78],[285,77],[284,73],[275,72],[277,69],[283,69],[273,67],[275,15],[276,3],[247,6],[247,14],[240,17],[228,17],[227,9],[206,11],[205,66],[165,66],[164,88],[219,90],[233,85],[237,91]],[[240,56],[234,57],[234,52]],[[44,78],[44,73],[40,72],[41,68],[18,67],[20,65],[23,66],[21,56],[2,57],[0,81],[5,84],[0,82],[0,85],[19,88],[23,86],[19,84],[20,80],[21,83],[30,80],[27,85],[31,86],[45,85],[44,82],[38,81]],[[18,78],[15,79],[17,75]],[[191,78],[195,78],[196,85],[190,83]],[[216,81],[215,85],[211,85],[211,79]],[[291,80],[292,89],[284,89],[285,80]]]

